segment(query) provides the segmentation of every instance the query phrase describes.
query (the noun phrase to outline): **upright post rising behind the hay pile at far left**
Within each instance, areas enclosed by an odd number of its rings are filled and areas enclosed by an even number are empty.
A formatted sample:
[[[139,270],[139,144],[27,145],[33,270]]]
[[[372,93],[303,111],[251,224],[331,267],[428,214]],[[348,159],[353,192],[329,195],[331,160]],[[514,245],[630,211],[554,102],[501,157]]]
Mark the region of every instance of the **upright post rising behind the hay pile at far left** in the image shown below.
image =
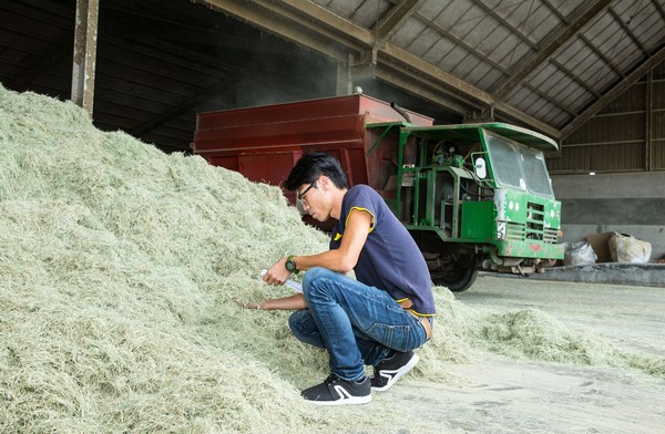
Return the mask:
[[[76,0],[72,101],[92,117],[100,0]]]

